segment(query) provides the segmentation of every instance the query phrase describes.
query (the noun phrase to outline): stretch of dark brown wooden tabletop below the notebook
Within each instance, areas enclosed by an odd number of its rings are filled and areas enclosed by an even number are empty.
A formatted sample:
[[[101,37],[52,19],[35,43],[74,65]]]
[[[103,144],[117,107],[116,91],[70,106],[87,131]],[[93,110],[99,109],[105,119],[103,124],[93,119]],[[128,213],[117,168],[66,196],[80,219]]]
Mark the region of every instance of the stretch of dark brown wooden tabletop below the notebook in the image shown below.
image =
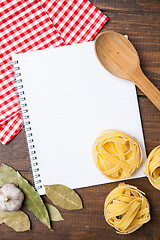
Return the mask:
[[[157,199],[158,190],[154,190],[147,178],[143,179],[134,179],[127,181],[131,185],[137,186],[139,189],[146,193],[146,197],[151,203],[152,206],[152,220],[150,223],[145,224],[141,229],[136,233],[126,235],[126,240],[134,240],[135,237],[141,240],[155,239],[158,240],[160,230],[155,228],[158,225],[160,202],[155,201]],[[112,229],[105,221],[103,215],[104,201],[108,193],[115,188],[118,183],[112,184],[103,184],[95,187],[88,187],[84,189],[78,189],[77,192],[81,195],[84,201],[84,209],[78,211],[61,211],[64,221],[55,222],[52,227],[55,229],[55,232],[50,232],[39,220],[34,220],[34,216],[30,213],[26,207],[23,210],[29,215],[32,221],[32,231],[26,233],[15,233],[7,226],[3,226],[2,231],[4,239],[17,239],[20,240],[22,237],[24,239],[45,239],[47,233],[47,239],[55,240],[65,240],[65,239],[122,239],[121,235],[115,233],[115,230]],[[152,192],[152,194],[150,194]],[[154,210],[153,210],[154,209]],[[156,229],[156,231],[155,231]],[[0,232],[1,233],[1,232]],[[1,235],[2,236],[2,235]]]

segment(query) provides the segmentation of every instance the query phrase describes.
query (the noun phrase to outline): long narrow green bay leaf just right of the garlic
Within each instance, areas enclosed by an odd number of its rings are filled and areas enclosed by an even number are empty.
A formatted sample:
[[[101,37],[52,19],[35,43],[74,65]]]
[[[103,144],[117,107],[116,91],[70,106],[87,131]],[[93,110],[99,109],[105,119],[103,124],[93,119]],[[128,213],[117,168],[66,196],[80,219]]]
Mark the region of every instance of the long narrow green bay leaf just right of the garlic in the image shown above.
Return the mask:
[[[35,191],[35,189],[28,183],[28,181],[19,174],[19,172],[17,172],[17,177],[19,188],[25,194],[25,205],[43,224],[52,230],[50,226],[48,211],[38,192]]]

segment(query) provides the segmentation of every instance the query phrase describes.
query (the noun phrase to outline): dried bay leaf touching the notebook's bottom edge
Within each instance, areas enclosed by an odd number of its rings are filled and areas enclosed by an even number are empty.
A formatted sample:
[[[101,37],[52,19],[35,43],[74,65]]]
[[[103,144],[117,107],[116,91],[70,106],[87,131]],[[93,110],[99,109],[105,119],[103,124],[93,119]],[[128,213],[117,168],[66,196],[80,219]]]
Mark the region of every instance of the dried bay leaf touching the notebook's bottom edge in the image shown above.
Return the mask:
[[[47,197],[57,206],[67,210],[83,208],[79,195],[61,184],[44,185]]]

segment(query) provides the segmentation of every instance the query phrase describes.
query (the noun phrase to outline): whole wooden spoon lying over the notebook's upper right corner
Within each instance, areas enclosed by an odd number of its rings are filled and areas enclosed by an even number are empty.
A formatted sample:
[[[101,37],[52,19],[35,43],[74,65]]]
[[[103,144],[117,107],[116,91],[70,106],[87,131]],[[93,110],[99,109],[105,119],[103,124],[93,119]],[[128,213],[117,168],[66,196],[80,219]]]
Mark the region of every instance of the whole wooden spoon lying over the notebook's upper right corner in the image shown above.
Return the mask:
[[[142,72],[138,53],[126,37],[113,31],[102,32],[95,39],[95,51],[106,70],[134,82],[160,110],[160,91]]]

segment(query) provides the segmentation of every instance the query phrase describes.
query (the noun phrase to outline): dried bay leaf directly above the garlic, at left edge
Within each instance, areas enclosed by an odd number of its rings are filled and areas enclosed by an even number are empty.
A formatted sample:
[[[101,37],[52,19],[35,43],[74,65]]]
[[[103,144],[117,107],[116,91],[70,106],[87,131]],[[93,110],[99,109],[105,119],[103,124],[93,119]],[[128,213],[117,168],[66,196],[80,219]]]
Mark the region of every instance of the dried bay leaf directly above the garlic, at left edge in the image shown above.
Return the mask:
[[[13,183],[18,186],[17,172],[13,168],[2,163],[0,167],[0,187],[8,183]]]

